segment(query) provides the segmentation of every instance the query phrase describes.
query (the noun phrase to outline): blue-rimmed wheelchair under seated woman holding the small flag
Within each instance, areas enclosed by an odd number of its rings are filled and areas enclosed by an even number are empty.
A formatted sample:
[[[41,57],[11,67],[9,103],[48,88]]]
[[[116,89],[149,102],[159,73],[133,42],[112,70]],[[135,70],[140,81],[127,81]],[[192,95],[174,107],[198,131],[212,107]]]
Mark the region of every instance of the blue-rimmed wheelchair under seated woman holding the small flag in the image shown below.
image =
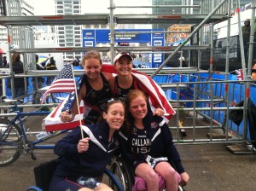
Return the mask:
[[[51,177],[53,176],[57,165],[56,159],[53,159],[36,166],[34,168],[36,186],[30,186],[29,188],[26,188],[26,191],[48,191]],[[113,188],[113,190],[124,191],[122,184],[117,177],[113,175],[112,171],[106,168],[104,175],[108,177],[108,182],[111,182],[111,188]]]

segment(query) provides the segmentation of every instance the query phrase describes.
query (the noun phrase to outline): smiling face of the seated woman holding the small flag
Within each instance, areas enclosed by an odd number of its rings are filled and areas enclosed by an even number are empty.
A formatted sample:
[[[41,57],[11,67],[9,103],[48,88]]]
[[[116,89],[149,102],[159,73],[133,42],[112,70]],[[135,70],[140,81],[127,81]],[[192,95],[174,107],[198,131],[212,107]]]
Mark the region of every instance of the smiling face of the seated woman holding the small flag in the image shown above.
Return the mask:
[[[125,120],[125,107],[122,102],[115,101],[107,106],[107,112],[103,113],[111,130],[119,130]]]

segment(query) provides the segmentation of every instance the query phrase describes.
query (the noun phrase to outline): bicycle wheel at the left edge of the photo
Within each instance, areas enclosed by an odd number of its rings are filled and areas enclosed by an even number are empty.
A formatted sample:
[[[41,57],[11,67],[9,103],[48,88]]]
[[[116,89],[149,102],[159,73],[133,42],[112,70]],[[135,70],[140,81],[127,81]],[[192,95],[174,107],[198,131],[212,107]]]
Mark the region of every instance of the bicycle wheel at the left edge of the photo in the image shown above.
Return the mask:
[[[17,124],[8,119],[0,119],[0,167],[10,165],[20,157],[22,133]]]

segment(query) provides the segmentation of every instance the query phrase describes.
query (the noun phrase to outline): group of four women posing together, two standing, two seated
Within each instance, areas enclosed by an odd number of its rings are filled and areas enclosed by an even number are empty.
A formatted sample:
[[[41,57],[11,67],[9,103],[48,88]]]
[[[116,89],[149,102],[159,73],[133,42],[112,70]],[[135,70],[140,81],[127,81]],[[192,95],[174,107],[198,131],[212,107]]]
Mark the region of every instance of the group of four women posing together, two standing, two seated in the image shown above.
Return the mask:
[[[113,67],[117,75],[113,77],[111,73],[102,72],[102,59],[97,51],[84,55],[79,100],[62,111],[61,120],[63,123],[73,121],[83,100],[85,125],[75,128],[55,144],[59,165],[49,190],[111,190],[101,183],[101,177],[113,157],[110,151],[117,145],[120,146],[116,148],[117,153],[129,159],[135,175],[147,182],[148,191],[159,190],[157,174],[165,179],[169,191],[177,190],[176,171],[184,185],[189,182],[172,142],[172,133],[163,119],[170,113],[160,105],[150,105],[150,93],[132,74],[132,60],[129,52],[115,55]],[[148,157],[158,162],[148,165]]]

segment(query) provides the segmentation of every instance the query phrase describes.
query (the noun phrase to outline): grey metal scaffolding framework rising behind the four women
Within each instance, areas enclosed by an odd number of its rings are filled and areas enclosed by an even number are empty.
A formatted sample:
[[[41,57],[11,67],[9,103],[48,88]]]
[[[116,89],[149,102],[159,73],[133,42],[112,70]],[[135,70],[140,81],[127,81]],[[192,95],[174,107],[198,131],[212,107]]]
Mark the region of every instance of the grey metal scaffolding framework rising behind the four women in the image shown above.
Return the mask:
[[[237,1],[238,2],[238,1]],[[230,95],[234,94],[235,89],[230,89],[230,86],[234,87],[233,84],[244,85],[244,88],[241,88],[241,91],[244,91],[244,97],[239,97],[239,100],[245,100],[247,103],[247,99],[249,97],[248,92],[251,87],[251,79],[249,76],[251,75],[251,66],[249,65],[252,62],[253,55],[253,25],[251,27],[251,36],[250,36],[250,47],[249,47],[249,61],[248,61],[248,71],[246,75],[246,79],[244,81],[230,81],[228,78],[229,74],[229,57],[230,57],[230,15],[232,8],[232,0],[201,0],[199,5],[190,5],[183,4],[177,6],[183,9],[200,9],[200,14],[114,14],[115,9],[140,9],[140,8],[148,8],[154,9],[156,6],[115,6],[113,0],[109,0],[109,14],[84,14],[84,15],[47,15],[47,16],[2,16],[0,17],[0,25],[6,26],[9,29],[9,35],[14,35],[12,30],[14,27],[24,27],[22,30],[22,37],[24,37],[19,44],[19,49],[11,49],[9,47],[9,53],[12,52],[20,52],[23,55],[31,55],[32,53],[49,53],[49,52],[84,52],[90,51],[92,49],[96,49],[100,52],[110,52],[111,59],[113,60],[114,53],[118,50],[132,50],[134,52],[149,52],[149,53],[164,53],[171,54],[166,60],[160,65],[158,68],[146,68],[146,69],[137,69],[138,71],[142,71],[151,76],[151,78],[166,75],[168,78],[173,74],[179,74],[180,76],[185,76],[189,78],[188,82],[177,82],[175,84],[160,84],[163,90],[166,93],[170,90],[172,92],[176,92],[177,99],[170,100],[173,104],[176,104],[177,115],[176,115],[176,125],[172,125],[171,129],[177,130],[177,143],[218,143],[218,142],[247,142],[247,121],[245,120],[243,126],[243,132],[234,128],[232,123],[229,120],[229,111],[230,110],[243,110],[244,119],[247,115],[247,107],[232,107],[232,103],[234,99],[230,99]],[[159,5],[157,7],[160,7]],[[172,8],[173,6],[169,6]],[[165,5],[166,8],[166,5]],[[253,15],[255,14],[254,2],[253,2]],[[228,32],[227,32],[227,46],[226,46],[226,65],[225,72],[218,72],[224,74],[224,80],[213,80],[212,74],[216,73],[213,65],[213,26],[215,23],[228,20]],[[140,47],[115,47],[114,44],[114,28],[117,24],[168,24],[170,26],[174,24],[190,24],[193,26],[192,31],[189,34],[189,37],[185,39],[183,43],[174,46],[140,46]],[[32,27],[31,26],[55,26],[55,25],[83,25],[83,24],[104,24],[109,25],[110,28],[110,46],[108,47],[70,47],[70,48],[33,48],[33,40],[32,40]],[[240,35],[241,35],[241,26]],[[31,32],[31,33],[30,33]],[[172,31],[165,31],[165,33]],[[153,33],[153,32],[152,32]],[[20,39],[21,40],[21,39]],[[190,46],[185,46],[187,42],[194,42]],[[194,45],[195,44],[195,45]],[[242,49],[242,42],[241,49]],[[196,66],[187,67],[187,68],[164,68],[168,61],[172,59],[174,55],[176,55],[179,51],[186,50],[189,51],[190,55],[195,55],[195,61],[197,61]],[[209,70],[201,70],[201,55],[202,52],[208,50],[210,54]],[[241,51],[243,53],[243,51]],[[26,57],[26,56],[24,56]],[[245,71],[245,62],[244,55],[241,54],[242,61],[242,69]],[[29,63],[30,61],[26,61]],[[27,68],[27,67],[26,67]],[[10,68],[12,73],[12,68]],[[82,71],[75,71],[75,75],[81,75]],[[207,74],[207,80],[204,74]],[[55,76],[57,75],[57,71],[33,71],[26,70],[24,74],[15,75],[15,78],[27,78],[31,76]],[[14,78],[13,75],[3,76],[0,78]],[[193,81],[190,81],[194,79]],[[223,95],[219,96],[216,93],[216,86],[220,84]],[[232,85],[231,85],[232,84]],[[13,85],[13,84],[12,84]],[[206,86],[207,85],[207,89]],[[186,92],[187,96],[190,99],[180,99],[181,94]],[[240,94],[242,95],[242,94]],[[193,107],[183,108],[184,103],[190,103]],[[209,107],[206,107],[208,104]],[[219,104],[219,106],[218,106]],[[186,116],[186,119],[192,120],[192,125],[182,126],[180,125],[180,119],[183,116],[184,112],[191,112],[192,115]],[[217,114],[216,114],[217,113]],[[224,113],[224,121],[219,122],[217,119],[214,119],[215,115],[219,115],[218,119],[220,120],[220,113]],[[196,126],[195,121],[199,118],[199,116],[207,119],[209,121],[209,125],[204,126]],[[221,121],[221,120],[220,120]],[[191,130],[193,135],[192,139],[183,139],[179,135],[179,130]],[[199,139],[196,137],[196,131],[201,129],[207,129],[210,131],[210,136],[208,139]],[[221,138],[214,138],[213,131],[221,130]],[[237,135],[236,138],[230,137],[229,131],[235,132]]]

